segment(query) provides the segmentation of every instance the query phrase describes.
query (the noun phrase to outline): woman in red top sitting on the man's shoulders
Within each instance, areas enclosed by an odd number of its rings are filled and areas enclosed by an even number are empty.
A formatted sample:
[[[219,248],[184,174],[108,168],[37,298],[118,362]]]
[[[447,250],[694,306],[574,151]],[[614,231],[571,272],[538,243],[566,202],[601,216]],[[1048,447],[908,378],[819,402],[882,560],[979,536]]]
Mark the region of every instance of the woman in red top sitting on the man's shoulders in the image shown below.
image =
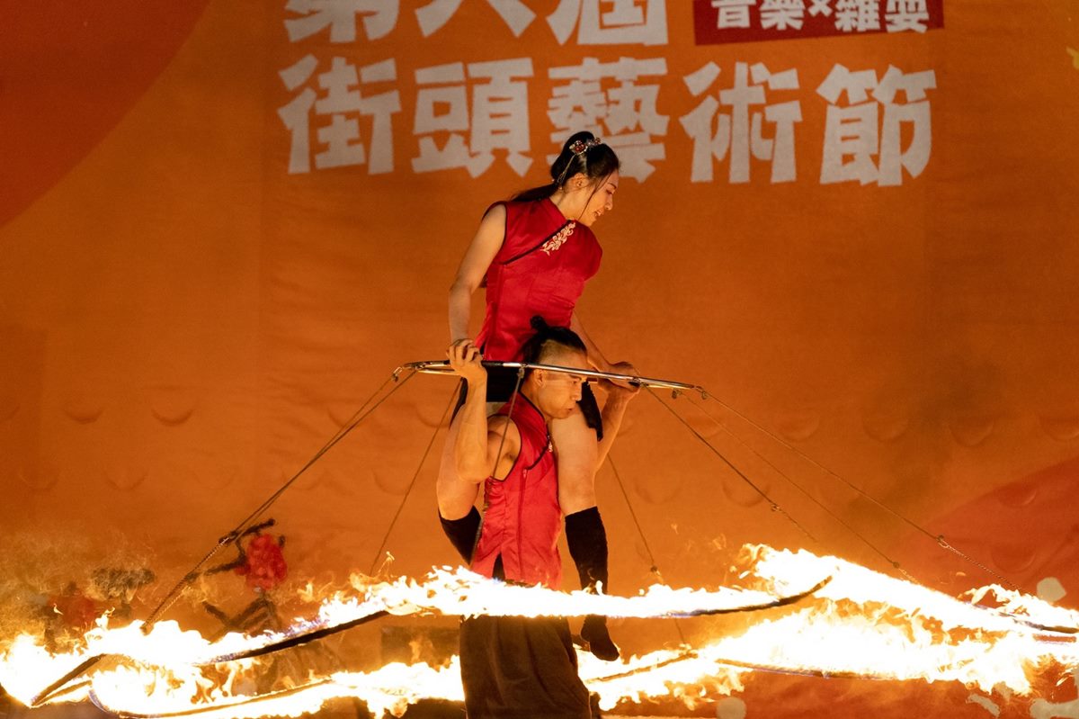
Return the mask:
[[[532,317],[540,316],[547,325],[572,327],[585,338],[588,361],[598,369],[632,372],[626,363],[609,364],[581,331],[574,314],[585,283],[599,270],[603,250],[591,227],[614,207],[618,157],[591,133],[576,133],[551,165],[550,177],[547,185],[491,205],[480,220],[450,288],[450,348],[475,345],[484,360],[519,361],[521,347],[535,331]],[[484,280],[487,312],[473,339],[468,333],[472,296],[484,286]],[[488,403],[496,408],[508,402],[516,384],[516,370],[489,371]],[[603,419],[620,422],[626,401],[626,393],[613,393],[601,417],[586,385],[578,409],[550,425],[566,543],[582,586],[592,591],[597,583],[607,591],[606,531],[596,506],[596,471],[610,450],[610,442],[603,440]],[[451,423],[447,448],[453,447],[455,428]],[[607,434],[613,438],[616,432]],[[439,515],[466,560],[472,558],[479,528],[478,492],[478,485],[457,477],[452,451],[443,452]],[[581,634],[600,659],[618,657],[605,618],[586,618]]]

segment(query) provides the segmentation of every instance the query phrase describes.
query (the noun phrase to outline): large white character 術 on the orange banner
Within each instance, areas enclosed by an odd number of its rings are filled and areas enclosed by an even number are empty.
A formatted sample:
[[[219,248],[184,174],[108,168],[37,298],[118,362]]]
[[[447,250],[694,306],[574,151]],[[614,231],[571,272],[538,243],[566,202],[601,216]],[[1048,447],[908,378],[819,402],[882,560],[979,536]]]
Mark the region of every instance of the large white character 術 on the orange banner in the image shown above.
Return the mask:
[[[689,94],[700,97],[715,83],[720,68],[708,63],[683,80]],[[752,80],[752,84],[751,81]],[[794,124],[802,121],[797,100],[765,105],[765,89],[791,91],[798,89],[797,70],[770,72],[757,63],[735,65],[734,86],[709,94],[680,122],[693,140],[693,182],[711,182],[713,159],[723,162],[729,154],[728,177],[733,184],[750,180],[750,158],[771,163],[771,182],[791,182],[797,177],[794,157]],[[720,108],[729,112],[720,113]],[[761,107],[763,106],[763,107]],[[759,108],[752,109],[751,108]],[[764,136],[764,124],[771,126],[770,137]]]

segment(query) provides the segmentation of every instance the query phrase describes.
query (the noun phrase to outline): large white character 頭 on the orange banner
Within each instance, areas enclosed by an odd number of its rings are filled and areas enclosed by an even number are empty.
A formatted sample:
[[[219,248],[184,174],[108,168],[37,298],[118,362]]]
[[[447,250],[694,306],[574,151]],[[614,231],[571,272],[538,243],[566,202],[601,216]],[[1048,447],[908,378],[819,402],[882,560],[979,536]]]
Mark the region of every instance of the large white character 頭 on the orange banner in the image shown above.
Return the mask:
[[[532,164],[527,154],[529,96],[523,81],[531,77],[532,60],[527,57],[472,63],[467,78],[463,63],[416,70],[412,132],[419,136],[420,154],[412,159],[412,169],[463,167],[479,177],[494,162],[494,151],[505,150],[507,164],[523,176]],[[441,147],[436,141],[439,136],[445,137]]]

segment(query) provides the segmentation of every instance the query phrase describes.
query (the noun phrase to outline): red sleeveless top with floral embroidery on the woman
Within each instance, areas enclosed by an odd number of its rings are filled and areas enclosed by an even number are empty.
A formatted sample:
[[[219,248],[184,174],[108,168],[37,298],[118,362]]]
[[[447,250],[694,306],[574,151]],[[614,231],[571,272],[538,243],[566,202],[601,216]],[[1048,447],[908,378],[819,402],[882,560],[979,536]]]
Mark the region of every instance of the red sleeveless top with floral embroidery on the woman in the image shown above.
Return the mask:
[[[532,317],[570,326],[603,250],[592,231],[550,200],[506,202],[506,239],[487,271],[487,315],[476,343],[487,360],[520,360]]]

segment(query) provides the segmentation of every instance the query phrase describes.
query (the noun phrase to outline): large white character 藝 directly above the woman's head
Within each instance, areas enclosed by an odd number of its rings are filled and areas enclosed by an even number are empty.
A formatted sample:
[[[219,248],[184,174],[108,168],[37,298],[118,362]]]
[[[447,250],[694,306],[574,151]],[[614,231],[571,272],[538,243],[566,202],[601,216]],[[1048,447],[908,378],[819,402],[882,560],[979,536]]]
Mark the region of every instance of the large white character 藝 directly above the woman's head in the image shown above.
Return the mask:
[[[618,152],[624,177],[643,182],[655,171],[652,162],[666,158],[655,137],[667,135],[669,118],[656,110],[659,85],[639,85],[638,80],[666,73],[663,57],[622,57],[614,63],[586,57],[581,65],[550,68],[552,80],[569,81],[556,85],[547,103],[547,117],[556,127],[551,140],[561,146],[571,134],[588,130]],[[617,84],[604,90],[604,80]]]

